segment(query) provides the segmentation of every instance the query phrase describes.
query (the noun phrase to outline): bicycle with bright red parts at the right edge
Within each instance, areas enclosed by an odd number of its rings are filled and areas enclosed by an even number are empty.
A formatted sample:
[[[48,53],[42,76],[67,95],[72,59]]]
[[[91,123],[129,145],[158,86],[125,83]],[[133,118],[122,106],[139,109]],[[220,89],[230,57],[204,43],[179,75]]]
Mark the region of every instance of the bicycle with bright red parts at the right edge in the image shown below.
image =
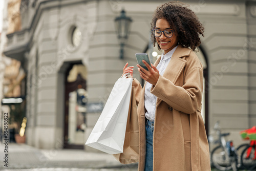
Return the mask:
[[[250,139],[250,144],[247,145],[241,154],[241,168],[254,170],[256,169],[256,126],[244,132],[244,136]]]

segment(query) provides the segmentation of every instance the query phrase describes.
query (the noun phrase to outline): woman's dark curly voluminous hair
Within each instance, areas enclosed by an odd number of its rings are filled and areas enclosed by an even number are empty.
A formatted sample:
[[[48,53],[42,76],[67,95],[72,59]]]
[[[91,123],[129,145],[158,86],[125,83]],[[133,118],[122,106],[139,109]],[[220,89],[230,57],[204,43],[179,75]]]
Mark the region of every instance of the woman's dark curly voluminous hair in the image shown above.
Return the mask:
[[[204,36],[204,27],[196,14],[187,7],[188,5],[179,1],[165,3],[157,7],[153,14],[151,29],[156,27],[158,19],[166,19],[170,27],[178,34],[178,44],[195,51],[201,44],[199,36]],[[153,33],[151,39],[155,47],[156,38]],[[160,50],[160,46],[158,44],[157,46]]]

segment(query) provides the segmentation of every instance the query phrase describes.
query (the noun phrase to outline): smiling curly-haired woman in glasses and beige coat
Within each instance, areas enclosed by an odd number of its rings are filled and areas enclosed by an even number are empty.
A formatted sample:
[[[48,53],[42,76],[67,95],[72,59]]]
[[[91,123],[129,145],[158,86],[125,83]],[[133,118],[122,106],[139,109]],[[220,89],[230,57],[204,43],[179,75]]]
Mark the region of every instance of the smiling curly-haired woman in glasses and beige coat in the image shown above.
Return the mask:
[[[138,105],[139,170],[210,170],[209,147],[201,116],[203,67],[195,54],[204,28],[183,3],[158,7],[152,19],[154,46],[161,58],[147,70],[146,83],[133,80]],[[189,49],[190,48],[190,49]],[[133,75],[133,66],[123,74]]]

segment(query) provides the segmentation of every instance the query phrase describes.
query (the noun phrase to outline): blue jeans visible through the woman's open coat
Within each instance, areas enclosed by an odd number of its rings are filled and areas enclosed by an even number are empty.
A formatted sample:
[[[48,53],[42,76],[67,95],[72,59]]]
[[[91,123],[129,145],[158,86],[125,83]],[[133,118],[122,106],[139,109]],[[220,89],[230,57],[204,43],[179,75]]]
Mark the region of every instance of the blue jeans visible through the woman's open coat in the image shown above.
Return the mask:
[[[146,160],[144,171],[153,170],[153,132],[154,122],[146,119]]]

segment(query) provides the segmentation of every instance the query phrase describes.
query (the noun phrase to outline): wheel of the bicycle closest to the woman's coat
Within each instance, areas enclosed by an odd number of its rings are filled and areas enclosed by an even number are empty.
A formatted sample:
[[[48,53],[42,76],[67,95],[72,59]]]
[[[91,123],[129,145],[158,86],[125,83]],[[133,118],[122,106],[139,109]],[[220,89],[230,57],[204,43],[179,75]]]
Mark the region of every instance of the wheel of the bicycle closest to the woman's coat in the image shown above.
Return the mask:
[[[212,165],[214,165],[219,170],[225,171],[232,169],[230,159],[221,145],[215,147],[212,150],[210,157]]]

